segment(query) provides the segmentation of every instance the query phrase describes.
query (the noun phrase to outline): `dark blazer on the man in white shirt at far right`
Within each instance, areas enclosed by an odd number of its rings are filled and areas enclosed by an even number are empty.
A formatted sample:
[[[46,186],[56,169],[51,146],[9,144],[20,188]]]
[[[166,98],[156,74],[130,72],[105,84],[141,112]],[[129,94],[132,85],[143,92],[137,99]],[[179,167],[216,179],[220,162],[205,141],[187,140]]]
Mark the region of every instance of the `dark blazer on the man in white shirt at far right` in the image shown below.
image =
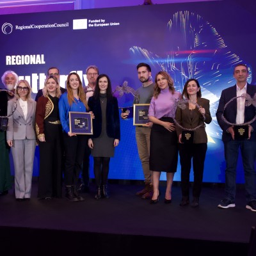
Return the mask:
[[[253,97],[256,93],[256,86],[247,84],[246,93],[248,93],[251,97]],[[228,122],[232,124],[236,124],[236,113],[237,113],[237,100],[232,100],[226,107],[224,111],[225,104],[231,100],[232,98],[237,97],[236,95],[236,85],[231,86],[221,92],[221,97],[219,101],[219,106],[216,112],[216,118],[218,121],[218,124],[220,125],[222,129],[222,140],[223,141],[230,141],[232,140],[232,136],[229,132],[227,132],[228,127],[230,127],[229,124],[226,124],[222,118],[221,115],[223,114]],[[224,111],[224,113],[223,113]],[[255,107],[253,105],[245,107],[244,106],[244,123],[249,122],[253,119],[255,116]],[[256,141],[256,121],[252,124],[253,132],[251,134],[251,141]]]

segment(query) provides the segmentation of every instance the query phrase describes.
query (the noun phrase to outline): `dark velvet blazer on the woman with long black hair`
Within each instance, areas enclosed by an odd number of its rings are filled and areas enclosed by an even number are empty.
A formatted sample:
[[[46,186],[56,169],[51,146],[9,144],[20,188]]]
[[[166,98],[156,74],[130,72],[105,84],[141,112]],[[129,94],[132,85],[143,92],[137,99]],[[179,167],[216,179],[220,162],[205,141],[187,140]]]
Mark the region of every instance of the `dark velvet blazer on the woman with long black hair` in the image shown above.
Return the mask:
[[[90,111],[93,112],[95,118],[93,118],[93,135],[92,138],[98,138],[102,128],[102,113],[100,107],[100,100],[95,100],[94,97],[90,97],[88,100],[88,106]],[[107,101],[106,108],[106,131],[109,138],[120,140],[120,119],[118,102],[116,97]]]

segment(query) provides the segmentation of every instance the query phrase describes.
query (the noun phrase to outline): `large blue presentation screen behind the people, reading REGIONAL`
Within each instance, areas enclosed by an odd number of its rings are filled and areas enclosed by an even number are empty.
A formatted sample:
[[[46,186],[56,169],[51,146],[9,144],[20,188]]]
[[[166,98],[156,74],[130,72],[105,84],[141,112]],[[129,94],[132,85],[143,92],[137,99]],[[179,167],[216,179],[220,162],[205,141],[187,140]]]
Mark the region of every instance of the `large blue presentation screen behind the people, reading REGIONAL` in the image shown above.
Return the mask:
[[[224,182],[222,131],[215,113],[221,91],[236,84],[234,65],[248,65],[248,83],[255,84],[256,31],[252,24],[255,14],[236,3],[231,6],[230,1],[1,15],[0,74],[13,70],[28,80],[33,98],[43,88],[49,67],[60,69],[63,87],[70,72],[77,72],[86,86],[89,65],[108,74],[113,90],[123,84],[135,90],[141,86],[136,70],[140,62],[150,65],[153,79],[160,70],[167,71],[179,92],[187,79],[196,78],[202,97],[210,100],[212,115],[211,124],[206,125],[204,182]],[[116,97],[120,108],[132,106],[131,93]],[[121,141],[110,162],[109,179],[143,180],[132,118],[120,122]],[[240,158],[237,182],[242,183]],[[164,173],[161,180],[166,180]],[[180,165],[174,180],[180,180]]]

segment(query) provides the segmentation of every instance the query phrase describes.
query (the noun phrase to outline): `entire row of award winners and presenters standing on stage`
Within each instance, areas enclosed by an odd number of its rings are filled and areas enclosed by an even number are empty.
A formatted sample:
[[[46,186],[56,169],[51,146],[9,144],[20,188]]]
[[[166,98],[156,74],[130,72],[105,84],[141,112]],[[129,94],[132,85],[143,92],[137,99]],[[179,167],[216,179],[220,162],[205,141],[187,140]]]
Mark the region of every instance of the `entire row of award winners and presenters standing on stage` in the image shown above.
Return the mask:
[[[177,171],[179,155],[182,190],[180,206],[191,204],[192,207],[198,207],[207,152],[205,124],[210,124],[212,120],[209,100],[202,98],[200,84],[196,79],[188,79],[180,93],[175,91],[173,79],[167,72],[158,72],[153,82],[151,68],[147,63],[139,63],[136,68],[142,83],[137,90],[139,102],[136,103],[150,104],[148,123],[136,125],[136,143],[145,177],[145,188],[136,195],[144,199],[149,198],[150,204],[159,202],[159,179],[161,172],[166,172],[164,203],[170,204],[173,176]],[[111,81],[106,74],[99,74],[97,67],[90,66],[86,69],[89,84],[85,90],[79,75],[75,72],[68,75],[67,89],[64,89],[59,84],[59,73],[58,68],[49,68],[44,88],[36,95],[37,104],[31,99],[31,87],[26,80],[18,81],[14,90],[17,75],[9,71],[2,77],[8,90],[1,92],[0,95],[8,108],[6,113],[3,110],[1,115],[9,116],[9,124],[6,140],[4,131],[0,133],[0,146],[5,150],[1,157],[8,156],[6,141],[12,148],[15,166],[15,196],[17,200],[30,198],[33,156],[37,140],[40,149],[38,198],[61,197],[64,166],[66,198],[72,202],[83,201],[84,198],[79,195],[79,191],[88,188],[90,154],[93,156],[93,172],[97,186],[95,199],[108,198],[109,161],[120,141],[118,102],[112,94]],[[235,207],[236,163],[238,150],[241,148],[246,177],[246,208],[256,211],[256,135],[253,132],[256,129],[256,122],[248,125],[246,140],[236,140],[234,137],[234,125],[249,122],[255,116],[255,108],[247,107],[241,95],[248,93],[253,97],[256,87],[247,84],[246,65],[236,65],[234,77],[237,83],[232,88],[223,90],[216,113],[218,123],[223,129],[227,163],[226,195],[218,207]],[[10,78],[13,78],[13,86],[7,83],[7,79]],[[232,108],[226,109],[230,99],[236,100],[233,100]],[[182,100],[181,108],[179,102]],[[70,111],[91,113],[92,136],[70,131]],[[122,113],[121,117],[127,118],[127,115],[128,113]],[[185,143],[183,131],[192,131],[191,143]],[[189,200],[191,161],[194,172],[192,202]],[[0,170],[2,195],[6,195],[11,186],[10,175],[6,172],[10,168],[7,161],[4,168],[5,171]],[[81,170],[83,179],[77,187]]]

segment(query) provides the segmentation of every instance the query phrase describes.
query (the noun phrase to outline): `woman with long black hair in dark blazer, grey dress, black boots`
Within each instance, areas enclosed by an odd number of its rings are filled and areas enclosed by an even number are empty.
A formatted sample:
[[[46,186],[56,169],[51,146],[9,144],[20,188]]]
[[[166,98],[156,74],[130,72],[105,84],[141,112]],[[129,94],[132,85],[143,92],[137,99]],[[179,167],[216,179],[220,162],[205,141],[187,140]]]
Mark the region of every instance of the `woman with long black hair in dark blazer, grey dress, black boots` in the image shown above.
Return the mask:
[[[93,171],[97,185],[95,199],[108,198],[108,173],[110,157],[114,156],[115,147],[120,141],[120,120],[118,102],[113,97],[111,82],[107,75],[97,77],[95,92],[88,100],[93,112],[93,136],[88,140],[94,161]]]

